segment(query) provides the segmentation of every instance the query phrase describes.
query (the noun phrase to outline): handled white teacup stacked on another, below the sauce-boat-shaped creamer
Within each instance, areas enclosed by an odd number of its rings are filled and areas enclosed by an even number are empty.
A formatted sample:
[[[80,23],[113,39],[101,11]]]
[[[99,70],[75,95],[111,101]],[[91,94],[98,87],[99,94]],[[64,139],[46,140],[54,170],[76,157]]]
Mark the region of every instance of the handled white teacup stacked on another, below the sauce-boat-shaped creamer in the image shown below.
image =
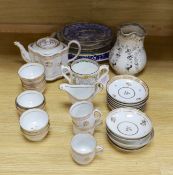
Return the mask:
[[[76,102],[69,111],[73,123],[79,129],[97,127],[102,122],[102,113],[89,101]]]

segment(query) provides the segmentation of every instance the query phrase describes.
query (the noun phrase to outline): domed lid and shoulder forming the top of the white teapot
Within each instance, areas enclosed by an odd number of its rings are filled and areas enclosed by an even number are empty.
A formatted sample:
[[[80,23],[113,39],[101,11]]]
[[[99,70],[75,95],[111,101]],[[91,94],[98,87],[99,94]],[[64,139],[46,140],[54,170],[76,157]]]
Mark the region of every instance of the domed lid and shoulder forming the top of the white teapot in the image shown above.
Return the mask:
[[[53,55],[63,50],[65,45],[55,38],[45,37],[36,41],[31,47],[42,55]]]

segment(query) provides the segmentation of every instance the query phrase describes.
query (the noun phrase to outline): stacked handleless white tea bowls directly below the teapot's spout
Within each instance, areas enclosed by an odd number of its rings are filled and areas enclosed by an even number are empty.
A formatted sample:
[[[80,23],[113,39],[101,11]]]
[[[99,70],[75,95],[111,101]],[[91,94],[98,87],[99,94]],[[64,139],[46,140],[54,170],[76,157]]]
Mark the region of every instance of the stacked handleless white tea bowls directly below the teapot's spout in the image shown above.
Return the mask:
[[[24,64],[18,71],[24,90],[43,92],[46,88],[45,69],[38,63]]]

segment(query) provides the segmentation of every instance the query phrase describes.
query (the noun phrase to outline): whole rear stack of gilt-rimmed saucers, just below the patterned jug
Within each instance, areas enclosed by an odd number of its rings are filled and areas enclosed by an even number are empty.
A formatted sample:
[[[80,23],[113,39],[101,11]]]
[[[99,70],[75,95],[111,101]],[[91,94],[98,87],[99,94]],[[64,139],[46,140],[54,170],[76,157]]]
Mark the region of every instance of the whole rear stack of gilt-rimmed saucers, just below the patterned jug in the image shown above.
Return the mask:
[[[111,110],[133,107],[143,111],[148,97],[146,83],[131,75],[115,76],[107,84],[107,105]]]

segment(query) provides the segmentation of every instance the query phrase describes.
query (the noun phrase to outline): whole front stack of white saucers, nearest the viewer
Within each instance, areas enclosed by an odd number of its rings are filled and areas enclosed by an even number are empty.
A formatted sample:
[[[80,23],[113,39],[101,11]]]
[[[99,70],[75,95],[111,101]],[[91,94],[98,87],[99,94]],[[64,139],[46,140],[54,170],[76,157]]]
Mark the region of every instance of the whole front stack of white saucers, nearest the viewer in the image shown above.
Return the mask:
[[[149,117],[134,108],[118,108],[106,118],[108,140],[123,151],[134,151],[148,145],[154,129]]]

